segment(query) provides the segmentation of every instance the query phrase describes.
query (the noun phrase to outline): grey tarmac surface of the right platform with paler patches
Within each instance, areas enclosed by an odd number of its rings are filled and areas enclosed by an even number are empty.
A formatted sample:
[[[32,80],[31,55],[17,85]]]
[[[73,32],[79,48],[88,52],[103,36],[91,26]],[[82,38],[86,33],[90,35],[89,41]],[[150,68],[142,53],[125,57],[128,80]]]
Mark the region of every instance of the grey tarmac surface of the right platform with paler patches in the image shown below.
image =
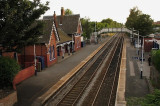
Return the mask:
[[[126,64],[126,98],[143,97],[149,93],[146,78],[150,75],[150,66],[148,65],[149,53],[144,53],[145,61],[143,62],[143,78],[140,77],[142,67],[141,61],[138,59],[137,48],[130,43],[129,37],[126,38],[127,43],[127,64]],[[139,52],[141,54],[141,50]],[[146,77],[146,78],[145,78]]]

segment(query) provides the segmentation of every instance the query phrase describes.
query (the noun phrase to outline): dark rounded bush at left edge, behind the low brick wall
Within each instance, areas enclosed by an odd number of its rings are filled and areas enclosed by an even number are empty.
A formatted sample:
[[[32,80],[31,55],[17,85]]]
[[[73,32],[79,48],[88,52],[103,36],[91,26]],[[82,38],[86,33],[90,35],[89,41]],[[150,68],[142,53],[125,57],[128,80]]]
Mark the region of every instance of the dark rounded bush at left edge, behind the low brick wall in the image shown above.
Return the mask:
[[[12,87],[12,81],[19,72],[17,61],[9,57],[0,57],[0,89]]]

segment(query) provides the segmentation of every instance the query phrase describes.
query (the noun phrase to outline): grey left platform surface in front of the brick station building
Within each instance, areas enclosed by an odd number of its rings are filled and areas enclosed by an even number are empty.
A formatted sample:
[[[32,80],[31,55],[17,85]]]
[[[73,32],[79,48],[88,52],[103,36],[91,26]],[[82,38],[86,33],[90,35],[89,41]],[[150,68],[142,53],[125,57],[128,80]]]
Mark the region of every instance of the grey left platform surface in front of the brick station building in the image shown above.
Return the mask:
[[[15,106],[31,106],[31,104],[56,84],[70,70],[103,44],[109,37],[98,44],[88,44],[70,56],[59,59],[59,62],[17,85],[18,103]]]

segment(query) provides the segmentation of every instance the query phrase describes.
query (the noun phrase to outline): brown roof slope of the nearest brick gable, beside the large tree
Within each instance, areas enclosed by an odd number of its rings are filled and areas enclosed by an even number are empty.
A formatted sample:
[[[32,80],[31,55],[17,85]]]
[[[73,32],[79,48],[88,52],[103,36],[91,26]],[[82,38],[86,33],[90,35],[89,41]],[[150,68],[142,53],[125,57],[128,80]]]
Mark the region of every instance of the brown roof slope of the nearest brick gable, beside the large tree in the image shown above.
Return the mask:
[[[39,37],[38,43],[49,43],[53,20],[42,20],[44,22],[43,35]]]

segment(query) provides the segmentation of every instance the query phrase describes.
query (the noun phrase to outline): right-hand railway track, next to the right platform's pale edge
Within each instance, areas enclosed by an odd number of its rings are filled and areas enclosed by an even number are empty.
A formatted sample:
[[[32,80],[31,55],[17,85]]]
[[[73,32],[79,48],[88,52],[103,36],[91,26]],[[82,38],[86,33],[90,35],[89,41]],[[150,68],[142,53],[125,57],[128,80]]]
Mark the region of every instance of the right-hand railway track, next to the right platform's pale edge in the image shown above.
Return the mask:
[[[98,92],[96,95],[92,95],[94,100],[92,106],[114,106],[115,105],[115,98],[116,98],[116,91],[118,85],[118,77],[119,77],[119,68],[120,68],[120,59],[121,59],[121,51],[122,51],[122,44],[123,38],[119,40],[117,43],[117,47],[114,51],[114,55],[111,57],[111,62],[103,70],[103,79],[100,85],[97,87]],[[104,73],[105,72],[105,73]],[[100,80],[99,80],[100,81]],[[93,91],[92,91],[93,92]],[[89,105],[89,104],[88,104]]]

